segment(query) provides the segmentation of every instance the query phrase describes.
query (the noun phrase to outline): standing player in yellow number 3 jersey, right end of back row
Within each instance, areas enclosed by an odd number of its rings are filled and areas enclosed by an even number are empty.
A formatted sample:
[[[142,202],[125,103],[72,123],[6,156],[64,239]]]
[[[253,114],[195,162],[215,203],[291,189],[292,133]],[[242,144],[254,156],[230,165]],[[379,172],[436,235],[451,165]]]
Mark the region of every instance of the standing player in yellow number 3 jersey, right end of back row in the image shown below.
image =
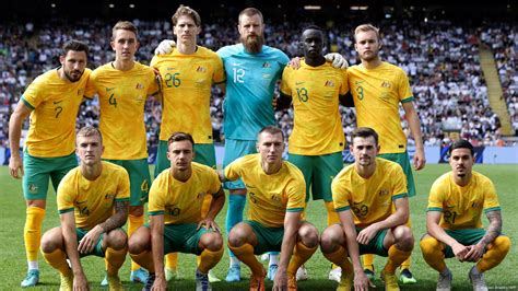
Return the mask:
[[[379,58],[381,40],[377,27],[370,24],[360,25],[354,31],[354,47],[362,63],[349,68],[348,77],[356,107],[357,127],[370,127],[378,132],[381,147],[379,156],[401,165],[407,175],[409,197],[413,197],[415,184],[407,152],[407,137],[399,117],[400,103],[415,141],[413,158],[415,170],[423,168],[426,160],[421,125],[413,105],[414,97],[410,91],[409,79],[401,68],[381,61]],[[373,261],[373,256],[364,256],[365,271],[372,277],[374,277]],[[400,280],[403,283],[416,282],[410,271],[410,261],[409,259],[401,265]]]

